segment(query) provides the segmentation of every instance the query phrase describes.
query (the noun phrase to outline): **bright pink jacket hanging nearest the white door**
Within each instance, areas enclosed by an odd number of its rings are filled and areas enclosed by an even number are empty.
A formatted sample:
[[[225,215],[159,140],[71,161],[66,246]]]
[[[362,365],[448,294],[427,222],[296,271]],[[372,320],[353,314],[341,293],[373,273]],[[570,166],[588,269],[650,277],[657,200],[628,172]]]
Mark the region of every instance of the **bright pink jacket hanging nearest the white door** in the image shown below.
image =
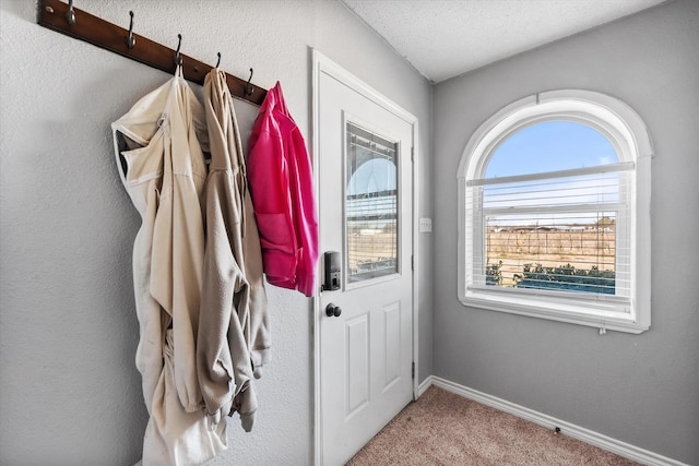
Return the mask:
[[[318,260],[312,169],[279,82],[252,128],[247,169],[268,282],[312,296]]]

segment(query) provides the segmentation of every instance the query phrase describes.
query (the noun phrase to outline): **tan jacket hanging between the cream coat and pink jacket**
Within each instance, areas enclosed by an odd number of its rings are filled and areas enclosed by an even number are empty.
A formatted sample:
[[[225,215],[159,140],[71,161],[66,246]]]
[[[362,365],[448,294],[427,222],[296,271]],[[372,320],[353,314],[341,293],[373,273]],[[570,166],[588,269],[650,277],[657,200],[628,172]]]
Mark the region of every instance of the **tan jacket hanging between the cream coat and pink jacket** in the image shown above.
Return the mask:
[[[212,422],[238,411],[250,431],[257,409],[253,372],[259,375],[269,358],[269,314],[240,133],[226,74],[218,69],[204,80],[204,107],[211,164],[199,379]]]

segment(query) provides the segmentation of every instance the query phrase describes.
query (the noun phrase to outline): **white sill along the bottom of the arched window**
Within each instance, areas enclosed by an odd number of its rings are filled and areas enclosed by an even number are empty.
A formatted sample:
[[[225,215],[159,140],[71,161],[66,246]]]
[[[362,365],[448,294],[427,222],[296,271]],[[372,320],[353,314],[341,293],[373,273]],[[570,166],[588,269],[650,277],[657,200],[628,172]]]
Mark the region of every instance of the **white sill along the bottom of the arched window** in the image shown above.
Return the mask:
[[[477,288],[469,289],[465,296],[459,297],[459,300],[470,308],[596,327],[600,328],[600,334],[606,331],[640,334],[650,328],[649,324],[639,322],[633,312],[629,312],[628,303],[585,302],[588,300],[560,299],[550,296],[532,299],[521,294]]]

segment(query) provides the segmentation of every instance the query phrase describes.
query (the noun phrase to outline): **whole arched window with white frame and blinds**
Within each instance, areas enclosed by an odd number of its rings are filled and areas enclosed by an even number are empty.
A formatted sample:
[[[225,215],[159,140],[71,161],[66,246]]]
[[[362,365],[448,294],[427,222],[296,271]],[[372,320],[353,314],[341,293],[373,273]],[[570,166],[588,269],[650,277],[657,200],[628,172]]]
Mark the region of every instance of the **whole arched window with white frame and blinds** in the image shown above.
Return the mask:
[[[459,168],[459,298],[606,330],[650,326],[650,139],[620,100],[556,91],[471,138]]]

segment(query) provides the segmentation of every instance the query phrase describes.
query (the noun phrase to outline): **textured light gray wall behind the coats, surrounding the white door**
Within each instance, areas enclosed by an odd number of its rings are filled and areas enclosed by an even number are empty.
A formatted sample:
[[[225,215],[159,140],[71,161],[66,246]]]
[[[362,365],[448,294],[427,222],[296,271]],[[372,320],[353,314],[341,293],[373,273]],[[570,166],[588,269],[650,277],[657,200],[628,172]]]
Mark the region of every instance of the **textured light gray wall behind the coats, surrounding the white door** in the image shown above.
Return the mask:
[[[431,216],[431,88],[334,1],[107,1],[75,7],[253,82],[282,82],[311,146],[310,47],[419,119],[417,215]],[[131,249],[140,218],[109,123],[169,75],[35,24],[0,2],[0,463],[125,465],[146,422],[134,368]],[[138,44],[137,44],[138,47]],[[257,107],[236,101],[245,136]],[[247,139],[247,138],[246,138]],[[431,367],[431,236],[420,235],[420,379]],[[269,287],[274,348],[260,411],[213,464],[310,464],[311,300]]]

